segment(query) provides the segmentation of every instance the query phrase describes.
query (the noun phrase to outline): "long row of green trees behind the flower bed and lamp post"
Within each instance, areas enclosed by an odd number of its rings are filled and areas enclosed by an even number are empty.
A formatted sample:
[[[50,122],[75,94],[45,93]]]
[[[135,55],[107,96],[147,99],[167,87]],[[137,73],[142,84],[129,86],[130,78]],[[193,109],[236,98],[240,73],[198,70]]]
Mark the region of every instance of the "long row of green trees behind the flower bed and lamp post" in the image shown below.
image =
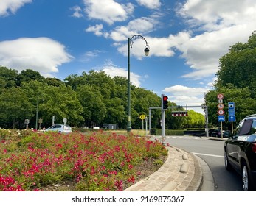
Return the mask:
[[[24,120],[30,119],[30,127],[35,128],[36,114],[43,120],[42,127],[63,123],[75,127],[117,124],[117,128],[127,127],[127,79],[111,78],[103,71],[71,74],[61,81],[44,78],[37,71],[18,71],[0,66],[0,127],[24,127]],[[140,115],[148,114],[149,107],[159,107],[161,98],[152,91],[131,85],[131,124],[133,129],[141,129]],[[161,111],[152,110],[152,127],[161,127]],[[166,116],[168,129],[184,127],[185,124],[204,125],[198,119],[204,116],[193,113],[190,121]],[[173,124],[175,122],[175,124]]]

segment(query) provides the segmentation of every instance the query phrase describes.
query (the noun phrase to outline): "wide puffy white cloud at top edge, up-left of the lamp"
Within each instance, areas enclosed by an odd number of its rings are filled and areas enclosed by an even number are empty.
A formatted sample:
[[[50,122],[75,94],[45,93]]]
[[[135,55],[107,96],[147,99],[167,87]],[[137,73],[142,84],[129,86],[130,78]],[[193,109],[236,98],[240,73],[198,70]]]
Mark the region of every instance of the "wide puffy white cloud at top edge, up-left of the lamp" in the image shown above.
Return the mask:
[[[89,18],[113,24],[115,21],[125,21],[134,11],[134,5],[119,4],[114,0],[83,0],[85,11]]]

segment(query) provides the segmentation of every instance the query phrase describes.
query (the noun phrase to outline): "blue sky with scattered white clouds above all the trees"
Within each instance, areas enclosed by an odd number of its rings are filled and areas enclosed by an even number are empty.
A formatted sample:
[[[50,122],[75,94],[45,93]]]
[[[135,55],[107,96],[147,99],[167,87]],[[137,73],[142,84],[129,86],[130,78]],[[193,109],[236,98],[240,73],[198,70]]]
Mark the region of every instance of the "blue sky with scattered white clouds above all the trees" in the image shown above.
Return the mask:
[[[142,35],[150,55],[134,41],[132,84],[192,106],[204,103],[219,58],[256,29],[256,1],[1,0],[0,26],[0,65],[62,80],[127,77],[128,38]]]

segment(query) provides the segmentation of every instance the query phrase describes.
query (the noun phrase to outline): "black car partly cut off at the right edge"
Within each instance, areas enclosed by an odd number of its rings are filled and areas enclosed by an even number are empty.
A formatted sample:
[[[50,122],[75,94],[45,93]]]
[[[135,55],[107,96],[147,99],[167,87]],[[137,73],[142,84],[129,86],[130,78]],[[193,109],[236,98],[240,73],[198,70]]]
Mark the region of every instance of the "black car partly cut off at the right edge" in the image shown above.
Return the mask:
[[[234,168],[242,176],[243,191],[256,188],[256,114],[246,116],[224,144],[227,170]]]

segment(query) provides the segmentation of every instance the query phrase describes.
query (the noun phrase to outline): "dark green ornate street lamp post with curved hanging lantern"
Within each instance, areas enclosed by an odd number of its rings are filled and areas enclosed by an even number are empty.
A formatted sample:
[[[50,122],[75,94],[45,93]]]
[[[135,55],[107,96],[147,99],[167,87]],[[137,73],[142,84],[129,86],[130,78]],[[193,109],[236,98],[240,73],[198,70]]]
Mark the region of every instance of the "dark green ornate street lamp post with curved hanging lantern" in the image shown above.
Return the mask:
[[[132,48],[132,45],[136,39],[143,39],[145,40],[142,35],[134,35],[131,38],[128,38],[128,104],[127,104],[127,132],[128,134],[131,132],[131,82],[130,82],[130,47]],[[148,56],[149,54],[149,45],[147,40],[145,40],[146,46],[144,49],[145,56]]]

